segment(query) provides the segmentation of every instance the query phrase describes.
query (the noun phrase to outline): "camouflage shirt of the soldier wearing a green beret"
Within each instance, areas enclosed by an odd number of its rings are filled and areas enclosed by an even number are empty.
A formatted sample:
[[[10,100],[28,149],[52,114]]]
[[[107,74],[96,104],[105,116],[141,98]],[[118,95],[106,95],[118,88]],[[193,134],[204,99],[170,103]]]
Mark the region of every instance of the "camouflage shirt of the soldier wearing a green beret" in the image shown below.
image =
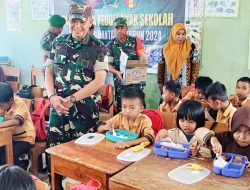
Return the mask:
[[[51,46],[53,40],[57,37],[56,34],[52,33],[49,29],[44,33],[40,45],[43,50],[43,54],[49,56],[49,52],[51,51]]]

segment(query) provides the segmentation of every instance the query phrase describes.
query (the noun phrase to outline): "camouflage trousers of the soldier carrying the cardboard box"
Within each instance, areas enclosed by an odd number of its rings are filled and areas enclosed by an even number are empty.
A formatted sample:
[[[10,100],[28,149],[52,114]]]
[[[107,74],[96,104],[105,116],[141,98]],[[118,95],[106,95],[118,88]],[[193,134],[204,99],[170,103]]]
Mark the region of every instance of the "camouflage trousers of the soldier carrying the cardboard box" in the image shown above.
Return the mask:
[[[145,84],[129,84],[129,85],[123,85],[119,78],[117,78],[116,75],[114,75],[114,84],[115,84],[115,101],[117,106],[118,113],[122,110],[122,103],[121,103],[121,96],[122,92],[129,88],[129,87],[135,87],[139,88],[143,91]],[[144,105],[145,106],[145,105]]]

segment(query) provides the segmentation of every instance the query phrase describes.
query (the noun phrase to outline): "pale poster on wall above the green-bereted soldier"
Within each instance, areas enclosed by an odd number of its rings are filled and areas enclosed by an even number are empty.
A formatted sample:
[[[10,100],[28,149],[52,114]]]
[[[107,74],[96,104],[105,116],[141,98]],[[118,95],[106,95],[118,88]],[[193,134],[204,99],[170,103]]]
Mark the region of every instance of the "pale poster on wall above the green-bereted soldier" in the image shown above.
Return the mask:
[[[48,20],[49,0],[31,0],[32,20]]]

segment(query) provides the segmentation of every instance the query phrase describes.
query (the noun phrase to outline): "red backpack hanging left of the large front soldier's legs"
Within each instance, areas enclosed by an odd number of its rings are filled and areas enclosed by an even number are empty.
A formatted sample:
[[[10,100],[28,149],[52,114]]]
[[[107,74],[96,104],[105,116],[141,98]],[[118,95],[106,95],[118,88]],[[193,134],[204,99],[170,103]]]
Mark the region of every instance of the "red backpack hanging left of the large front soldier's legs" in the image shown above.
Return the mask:
[[[37,107],[31,113],[31,118],[36,129],[36,141],[39,142],[46,141],[47,138],[44,112],[49,106],[50,106],[49,101],[45,104],[44,98],[38,98]]]

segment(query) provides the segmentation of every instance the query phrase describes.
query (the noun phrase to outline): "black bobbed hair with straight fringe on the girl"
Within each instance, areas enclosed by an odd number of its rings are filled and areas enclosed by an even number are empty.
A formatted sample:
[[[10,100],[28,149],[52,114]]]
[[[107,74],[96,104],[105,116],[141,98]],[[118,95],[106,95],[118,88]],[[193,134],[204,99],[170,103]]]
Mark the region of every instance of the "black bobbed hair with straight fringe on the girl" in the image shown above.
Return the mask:
[[[189,119],[196,122],[196,128],[204,127],[205,112],[202,104],[195,100],[187,100],[181,103],[177,111],[176,124],[180,128],[179,120]]]

